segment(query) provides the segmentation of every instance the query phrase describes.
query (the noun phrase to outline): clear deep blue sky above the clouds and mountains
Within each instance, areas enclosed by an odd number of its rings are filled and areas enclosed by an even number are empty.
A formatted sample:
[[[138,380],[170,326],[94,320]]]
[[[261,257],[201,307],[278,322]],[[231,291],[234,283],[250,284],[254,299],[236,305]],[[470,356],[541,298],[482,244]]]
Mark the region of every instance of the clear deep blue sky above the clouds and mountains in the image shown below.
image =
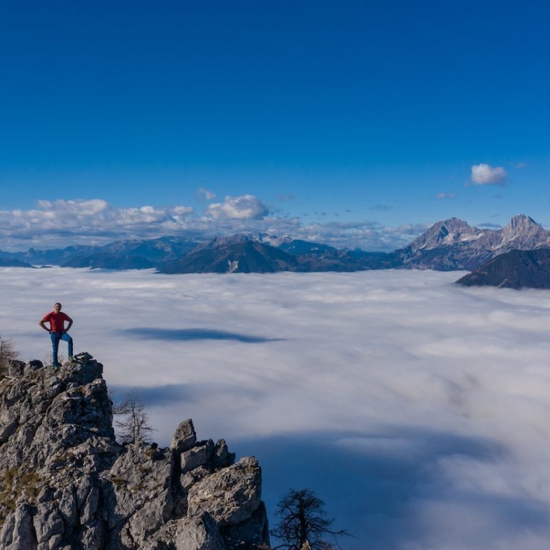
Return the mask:
[[[13,210],[92,199],[373,249],[452,216],[548,226],[549,16],[538,1],[3,2],[0,234],[18,248]],[[204,221],[244,195],[261,203],[249,217]]]

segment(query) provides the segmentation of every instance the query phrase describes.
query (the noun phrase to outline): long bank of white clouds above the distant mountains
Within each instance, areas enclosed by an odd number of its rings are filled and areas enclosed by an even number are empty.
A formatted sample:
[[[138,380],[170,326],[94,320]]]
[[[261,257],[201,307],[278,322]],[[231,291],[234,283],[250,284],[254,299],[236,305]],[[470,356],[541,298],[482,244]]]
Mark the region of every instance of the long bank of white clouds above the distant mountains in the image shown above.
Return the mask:
[[[105,244],[119,239],[153,239],[163,235],[208,239],[238,232],[261,231],[295,239],[320,241],[336,248],[393,250],[407,245],[425,224],[386,227],[367,219],[305,223],[285,212],[268,212],[253,195],[226,197],[198,214],[190,206],[151,205],[115,208],[102,199],[39,201],[32,210],[0,210],[2,250],[63,248]]]

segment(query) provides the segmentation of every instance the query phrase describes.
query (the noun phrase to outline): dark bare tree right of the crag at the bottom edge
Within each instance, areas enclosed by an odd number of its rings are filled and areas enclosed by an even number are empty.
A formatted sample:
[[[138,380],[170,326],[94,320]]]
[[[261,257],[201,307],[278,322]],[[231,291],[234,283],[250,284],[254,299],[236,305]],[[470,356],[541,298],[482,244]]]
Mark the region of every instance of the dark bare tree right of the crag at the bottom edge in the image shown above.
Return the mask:
[[[329,550],[338,548],[337,536],[351,536],[344,531],[333,531],[333,520],[327,518],[325,503],[311,489],[291,489],[277,505],[276,516],[279,524],[270,532],[283,544],[274,547],[300,550],[304,547],[311,550]],[[334,539],[334,544],[326,540]]]

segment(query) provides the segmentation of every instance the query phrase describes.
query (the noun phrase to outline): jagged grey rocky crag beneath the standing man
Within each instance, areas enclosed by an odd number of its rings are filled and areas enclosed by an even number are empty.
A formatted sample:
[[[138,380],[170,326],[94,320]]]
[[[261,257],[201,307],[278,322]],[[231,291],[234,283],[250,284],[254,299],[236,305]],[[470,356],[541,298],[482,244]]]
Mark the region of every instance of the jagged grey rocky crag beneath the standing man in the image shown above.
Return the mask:
[[[233,550],[269,546],[254,457],[197,441],[120,445],[102,365],[54,373],[14,361],[0,379],[0,548]]]

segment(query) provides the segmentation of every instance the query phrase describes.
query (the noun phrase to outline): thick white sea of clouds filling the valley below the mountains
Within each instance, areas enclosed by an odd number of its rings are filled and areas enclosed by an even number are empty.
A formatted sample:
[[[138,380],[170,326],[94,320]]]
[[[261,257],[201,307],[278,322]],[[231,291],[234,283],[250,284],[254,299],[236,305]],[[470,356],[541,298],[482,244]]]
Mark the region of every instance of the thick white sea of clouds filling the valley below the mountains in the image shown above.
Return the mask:
[[[546,550],[550,292],[461,275],[2,268],[1,334],[43,358],[61,301],[159,443],[192,417],[258,457],[271,514],[314,489],[344,549]]]

